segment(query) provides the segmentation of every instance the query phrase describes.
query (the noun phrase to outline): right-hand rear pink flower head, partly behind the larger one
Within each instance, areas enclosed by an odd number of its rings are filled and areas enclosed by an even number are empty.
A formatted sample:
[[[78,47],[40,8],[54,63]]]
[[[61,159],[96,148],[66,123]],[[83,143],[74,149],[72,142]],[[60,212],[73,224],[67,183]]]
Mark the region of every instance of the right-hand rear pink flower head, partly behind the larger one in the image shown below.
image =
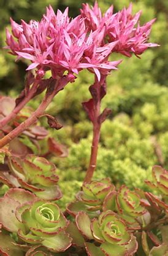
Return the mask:
[[[138,56],[148,47],[158,46],[158,44],[147,42],[151,26],[156,19],[140,26],[139,18],[142,11],[132,15],[132,4],[129,5],[128,9],[124,8],[115,14],[113,14],[113,6],[111,6],[102,15],[97,2],[95,2],[94,7],[91,8],[88,4],[83,4],[83,9],[80,12],[85,18],[86,28],[92,31],[104,29],[104,43],[118,41],[113,52],[131,57],[132,53]]]

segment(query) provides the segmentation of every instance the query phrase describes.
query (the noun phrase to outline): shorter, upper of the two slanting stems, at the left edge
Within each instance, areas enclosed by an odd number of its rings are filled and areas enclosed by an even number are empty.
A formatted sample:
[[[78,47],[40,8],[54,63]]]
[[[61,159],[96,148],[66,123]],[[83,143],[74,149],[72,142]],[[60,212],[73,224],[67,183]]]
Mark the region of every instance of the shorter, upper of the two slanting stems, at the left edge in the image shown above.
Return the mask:
[[[12,112],[9,115],[7,115],[7,117],[4,117],[3,119],[1,119],[0,129],[2,127],[4,127],[5,125],[7,125],[7,123],[12,121],[17,116],[18,112],[20,112],[21,109],[23,109],[23,107],[25,107],[25,105],[30,101],[30,99],[36,92],[38,84],[39,84],[39,80],[36,79],[31,87],[31,89],[29,90],[28,95],[26,95],[26,97],[12,110]]]

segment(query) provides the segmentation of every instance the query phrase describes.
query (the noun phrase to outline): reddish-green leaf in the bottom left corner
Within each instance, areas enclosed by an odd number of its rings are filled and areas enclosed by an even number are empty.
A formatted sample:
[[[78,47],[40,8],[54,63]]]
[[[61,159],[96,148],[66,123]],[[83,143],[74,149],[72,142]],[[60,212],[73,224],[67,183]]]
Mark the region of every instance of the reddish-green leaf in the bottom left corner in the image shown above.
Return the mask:
[[[23,256],[24,252],[15,247],[12,242],[14,240],[6,234],[0,233],[0,255],[1,256]]]

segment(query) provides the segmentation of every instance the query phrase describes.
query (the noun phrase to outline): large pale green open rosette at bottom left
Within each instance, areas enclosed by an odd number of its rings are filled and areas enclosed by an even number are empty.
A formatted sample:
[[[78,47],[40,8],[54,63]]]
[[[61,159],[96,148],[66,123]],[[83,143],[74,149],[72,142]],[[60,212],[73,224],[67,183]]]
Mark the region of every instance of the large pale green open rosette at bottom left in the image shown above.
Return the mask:
[[[41,244],[54,252],[71,246],[72,239],[65,233],[69,222],[57,204],[36,200],[18,206],[15,215],[22,223],[18,236],[26,243]]]

